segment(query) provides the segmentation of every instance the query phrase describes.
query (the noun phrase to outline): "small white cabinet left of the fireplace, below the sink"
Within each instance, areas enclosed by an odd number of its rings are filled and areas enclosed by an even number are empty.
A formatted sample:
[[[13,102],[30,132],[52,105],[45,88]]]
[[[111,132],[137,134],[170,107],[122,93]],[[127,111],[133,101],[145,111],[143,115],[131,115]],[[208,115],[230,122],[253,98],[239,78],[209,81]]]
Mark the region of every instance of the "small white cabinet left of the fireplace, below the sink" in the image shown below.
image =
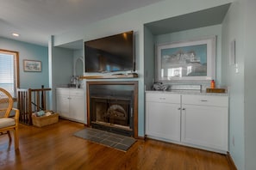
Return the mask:
[[[56,88],[56,100],[60,117],[86,124],[84,89]]]

